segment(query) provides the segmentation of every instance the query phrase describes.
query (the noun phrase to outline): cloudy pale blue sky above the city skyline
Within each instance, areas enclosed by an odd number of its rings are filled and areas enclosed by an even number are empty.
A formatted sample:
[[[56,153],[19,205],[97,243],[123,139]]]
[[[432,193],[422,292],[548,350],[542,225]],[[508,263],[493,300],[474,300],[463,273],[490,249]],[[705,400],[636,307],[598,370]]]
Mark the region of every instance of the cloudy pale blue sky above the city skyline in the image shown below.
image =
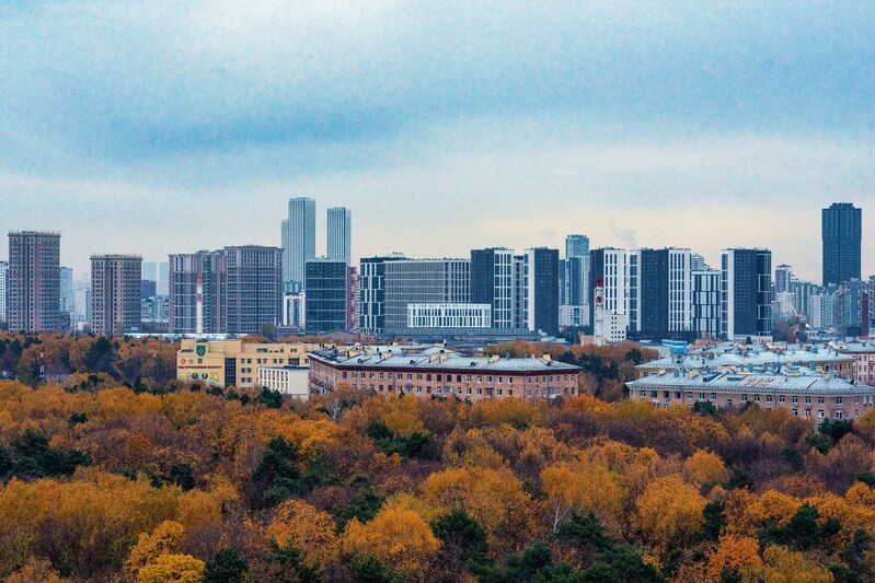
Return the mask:
[[[461,7],[461,8],[460,8]],[[0,2],[0,231],[166,260],[758,246],[820,277],[820,209],[875,273],[875,3]],[[7,255],[0,245],[0,258]]]

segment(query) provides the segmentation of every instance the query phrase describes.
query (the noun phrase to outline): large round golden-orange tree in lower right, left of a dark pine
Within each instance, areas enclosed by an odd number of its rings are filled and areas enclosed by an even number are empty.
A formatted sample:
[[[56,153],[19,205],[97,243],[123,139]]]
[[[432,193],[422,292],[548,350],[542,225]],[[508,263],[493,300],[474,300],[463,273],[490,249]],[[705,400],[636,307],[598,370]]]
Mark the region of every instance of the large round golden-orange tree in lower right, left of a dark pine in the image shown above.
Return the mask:
[[[665,551],[696,536],[705,499],[675,476],[653,480],[635,501],[634,525],[654,548]]]

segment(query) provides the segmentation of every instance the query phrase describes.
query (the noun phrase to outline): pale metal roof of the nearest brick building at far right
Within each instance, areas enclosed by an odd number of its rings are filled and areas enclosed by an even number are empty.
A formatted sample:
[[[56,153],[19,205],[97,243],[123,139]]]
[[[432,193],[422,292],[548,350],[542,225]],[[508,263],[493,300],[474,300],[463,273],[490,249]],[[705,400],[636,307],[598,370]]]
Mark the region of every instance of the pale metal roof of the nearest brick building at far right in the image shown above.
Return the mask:
[[[799,366],[775,366],[767,370],[745,370],[734,372],[666,371],[660,374],[630,381],[626,386],[636,388],[722,388],[737,390],[796,390],[796,392],[840,392],[850,394],[875,393],[875,387],[854,385],[830,374],[811,372]]]

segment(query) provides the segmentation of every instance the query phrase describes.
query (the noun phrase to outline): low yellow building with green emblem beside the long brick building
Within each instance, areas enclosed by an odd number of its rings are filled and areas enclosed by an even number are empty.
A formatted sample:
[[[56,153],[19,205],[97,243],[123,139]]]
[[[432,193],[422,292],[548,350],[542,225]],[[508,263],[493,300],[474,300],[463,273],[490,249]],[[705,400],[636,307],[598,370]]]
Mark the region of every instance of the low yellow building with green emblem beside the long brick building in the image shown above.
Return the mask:
[[[262,366],[309,366],[308,352],[332,348],[318,343],[249,343],[242,340],[182,340],[176,378],[209,386],[252,388]]]

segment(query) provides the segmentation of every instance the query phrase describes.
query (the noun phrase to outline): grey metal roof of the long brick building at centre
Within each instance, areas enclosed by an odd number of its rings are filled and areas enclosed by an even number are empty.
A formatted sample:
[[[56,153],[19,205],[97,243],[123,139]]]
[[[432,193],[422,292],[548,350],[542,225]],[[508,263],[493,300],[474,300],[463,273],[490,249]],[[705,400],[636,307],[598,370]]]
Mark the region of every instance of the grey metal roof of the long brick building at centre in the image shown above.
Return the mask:
[[[548,358],[499,358],[465,357],[441,347],[388,346],[367,347],[369,350],[357,350],[350,347],[330,350],[316,350],[310,353],[311,360],[321,360],[335,366],[373,366],[385,369],[473,369],[496,372],[576,372],[579,366],[556,362]]]

